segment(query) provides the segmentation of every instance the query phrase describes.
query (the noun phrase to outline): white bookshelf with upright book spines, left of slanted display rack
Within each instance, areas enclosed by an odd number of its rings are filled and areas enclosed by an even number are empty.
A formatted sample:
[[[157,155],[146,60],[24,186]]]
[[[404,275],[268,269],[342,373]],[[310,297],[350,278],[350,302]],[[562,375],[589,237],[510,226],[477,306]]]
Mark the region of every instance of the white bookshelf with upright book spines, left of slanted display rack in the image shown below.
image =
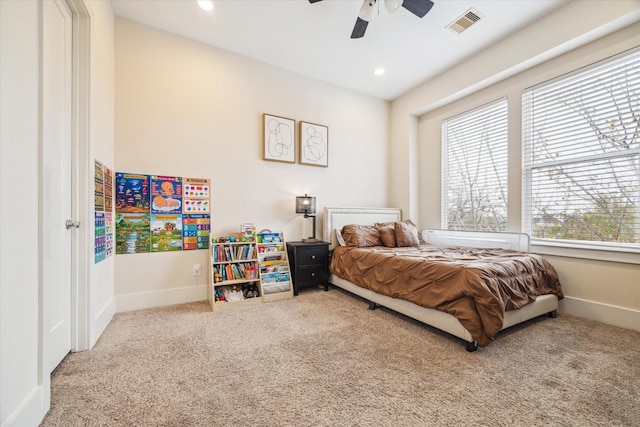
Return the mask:
[[[213,311],[262,302],[256,242],[211,243],[208,299]]]

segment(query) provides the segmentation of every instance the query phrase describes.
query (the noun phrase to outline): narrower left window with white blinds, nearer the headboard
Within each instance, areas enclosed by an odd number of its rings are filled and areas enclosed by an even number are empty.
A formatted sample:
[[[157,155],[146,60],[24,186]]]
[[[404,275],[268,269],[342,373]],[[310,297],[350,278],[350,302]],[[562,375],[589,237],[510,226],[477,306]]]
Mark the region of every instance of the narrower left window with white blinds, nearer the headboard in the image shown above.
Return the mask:
[[[442,122],[442,227],[507,226],[507,99]]]

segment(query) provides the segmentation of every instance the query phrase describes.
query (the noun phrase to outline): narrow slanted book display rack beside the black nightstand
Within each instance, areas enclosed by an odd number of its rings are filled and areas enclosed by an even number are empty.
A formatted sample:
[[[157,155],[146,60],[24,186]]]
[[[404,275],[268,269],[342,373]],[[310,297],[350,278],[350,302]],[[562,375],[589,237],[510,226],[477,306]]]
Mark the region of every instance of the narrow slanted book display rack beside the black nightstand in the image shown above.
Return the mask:
[[[262,300],[292,298],[293,286],[283,233],[258,233],[256,237]]]

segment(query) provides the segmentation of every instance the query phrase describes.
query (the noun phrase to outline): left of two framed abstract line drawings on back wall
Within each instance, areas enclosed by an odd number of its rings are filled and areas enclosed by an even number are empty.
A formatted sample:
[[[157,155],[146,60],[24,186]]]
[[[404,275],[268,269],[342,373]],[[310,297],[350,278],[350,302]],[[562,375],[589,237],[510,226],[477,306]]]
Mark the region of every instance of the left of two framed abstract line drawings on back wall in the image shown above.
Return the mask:
[[[264,160],[295,163],[295,121],[263,114]]]

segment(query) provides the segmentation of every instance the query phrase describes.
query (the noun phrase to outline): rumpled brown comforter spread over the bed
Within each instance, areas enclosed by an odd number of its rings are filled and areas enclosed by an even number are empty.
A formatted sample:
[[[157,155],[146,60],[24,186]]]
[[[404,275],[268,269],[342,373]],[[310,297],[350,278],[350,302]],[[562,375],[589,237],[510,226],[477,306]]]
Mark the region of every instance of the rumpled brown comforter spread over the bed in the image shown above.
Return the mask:
[[[480,346],[502,328],[505,311],[537,295],[563,297],[544,258],[506,249],[339,246],[330,270],[376,293],[454,315]]]

